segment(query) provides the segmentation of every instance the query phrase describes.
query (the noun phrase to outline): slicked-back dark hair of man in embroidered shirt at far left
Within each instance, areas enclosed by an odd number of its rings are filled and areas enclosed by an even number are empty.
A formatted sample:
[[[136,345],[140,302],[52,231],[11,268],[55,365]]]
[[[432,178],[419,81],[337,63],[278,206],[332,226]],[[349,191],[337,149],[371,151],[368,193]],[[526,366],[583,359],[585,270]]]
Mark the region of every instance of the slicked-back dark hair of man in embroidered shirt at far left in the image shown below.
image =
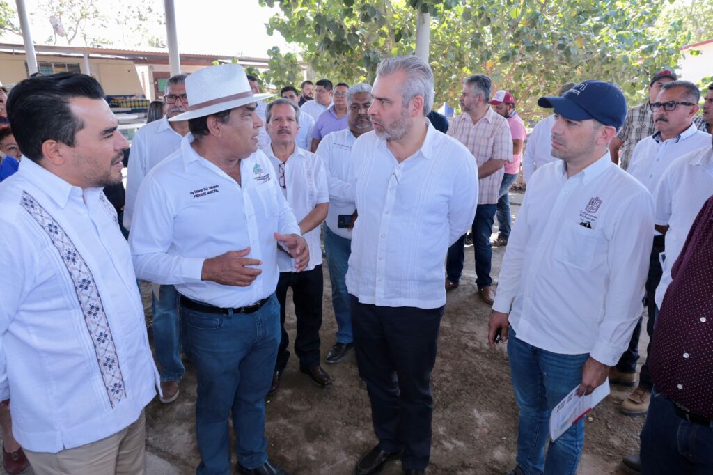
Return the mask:
[[[69,106],[72,98],[103,99],[98,81],[86,74],[57,73],[25,79],[7,99],[7,115],[22,153],[35,162],[42,159],[42,144],[58,141],[70,147],[84,128]]]

